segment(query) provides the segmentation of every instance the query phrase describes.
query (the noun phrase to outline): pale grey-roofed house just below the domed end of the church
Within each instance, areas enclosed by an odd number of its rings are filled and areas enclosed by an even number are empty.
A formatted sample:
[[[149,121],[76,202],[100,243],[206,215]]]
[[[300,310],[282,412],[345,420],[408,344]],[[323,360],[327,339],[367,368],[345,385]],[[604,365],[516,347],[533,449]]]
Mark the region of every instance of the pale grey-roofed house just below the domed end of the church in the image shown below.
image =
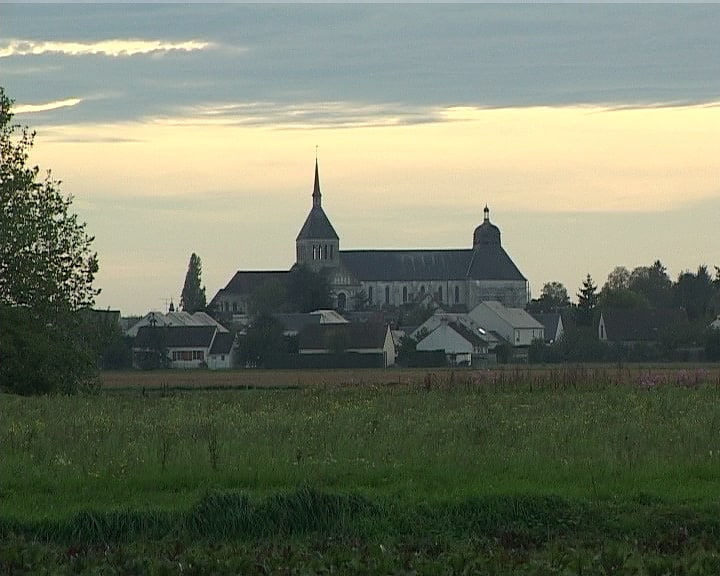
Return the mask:
[[[499,334],[514,348],[526,348],[545,338],[544,326],[522,308],[506,308],[500,302],[481,302],[468,316],[488,331]]]

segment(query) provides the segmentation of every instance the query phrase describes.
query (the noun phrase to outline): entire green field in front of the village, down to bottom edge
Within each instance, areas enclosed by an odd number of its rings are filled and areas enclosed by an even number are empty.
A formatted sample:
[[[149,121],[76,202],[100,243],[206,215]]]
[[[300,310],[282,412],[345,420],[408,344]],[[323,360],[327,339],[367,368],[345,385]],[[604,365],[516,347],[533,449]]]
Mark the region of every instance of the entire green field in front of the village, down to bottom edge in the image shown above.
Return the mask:
[[[720,573],[717,368],[103,380],[0,397],[0,573]]]

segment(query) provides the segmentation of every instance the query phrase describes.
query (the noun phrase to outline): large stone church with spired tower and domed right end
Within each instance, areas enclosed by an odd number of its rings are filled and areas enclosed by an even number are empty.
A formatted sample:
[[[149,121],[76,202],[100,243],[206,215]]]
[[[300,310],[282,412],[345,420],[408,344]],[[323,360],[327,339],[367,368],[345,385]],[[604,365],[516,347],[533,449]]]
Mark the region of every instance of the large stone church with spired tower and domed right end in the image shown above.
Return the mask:
[[[529,298],[528,281],[503,249],[487,206],[471,248],[341,250],[340,237],[322,207],[317,159],[312,207],[295,240],[294,266],[302,265],[328,274],[339,311],[401,306],[429,297],[453,309],[471,310],[486,300],[524,308]],[[254,291],[270,282],[284,284],[288,274],[238,271],[211,306],[220,313],[247,314]]]

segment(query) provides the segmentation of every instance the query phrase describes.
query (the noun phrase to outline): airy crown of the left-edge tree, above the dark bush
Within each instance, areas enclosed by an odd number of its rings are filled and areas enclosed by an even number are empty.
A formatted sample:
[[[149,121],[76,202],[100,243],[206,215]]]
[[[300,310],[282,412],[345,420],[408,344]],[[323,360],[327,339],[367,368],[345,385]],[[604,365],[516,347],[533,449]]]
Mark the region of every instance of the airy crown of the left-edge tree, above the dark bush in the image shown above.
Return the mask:
[[[27,165],[35,133],[12,123],[11,107],[0,87],[0,303],[50,321],[94,304],[97,253],[72,196]]]

